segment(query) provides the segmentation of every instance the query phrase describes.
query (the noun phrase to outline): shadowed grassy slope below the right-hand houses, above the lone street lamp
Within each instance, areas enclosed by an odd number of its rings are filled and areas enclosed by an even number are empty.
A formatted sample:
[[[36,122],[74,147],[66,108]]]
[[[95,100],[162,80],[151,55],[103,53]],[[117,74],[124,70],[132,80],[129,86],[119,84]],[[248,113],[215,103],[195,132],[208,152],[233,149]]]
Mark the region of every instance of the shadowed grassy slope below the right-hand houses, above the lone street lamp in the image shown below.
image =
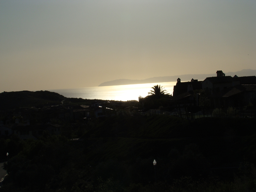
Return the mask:
[[[255,119],[203,118],[193,122],[165,116],[113,117],[88,131],[87,157],[91,161],[117,158],[166,159],[170,150],[182,152],[189,143],[199,146],[212,167],[254,161]]]

